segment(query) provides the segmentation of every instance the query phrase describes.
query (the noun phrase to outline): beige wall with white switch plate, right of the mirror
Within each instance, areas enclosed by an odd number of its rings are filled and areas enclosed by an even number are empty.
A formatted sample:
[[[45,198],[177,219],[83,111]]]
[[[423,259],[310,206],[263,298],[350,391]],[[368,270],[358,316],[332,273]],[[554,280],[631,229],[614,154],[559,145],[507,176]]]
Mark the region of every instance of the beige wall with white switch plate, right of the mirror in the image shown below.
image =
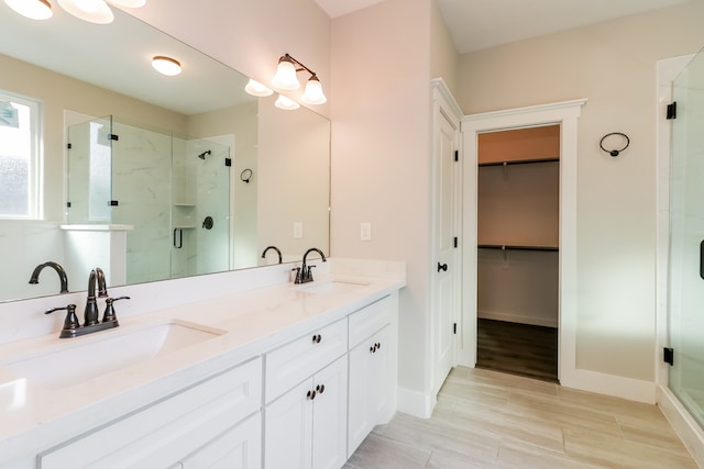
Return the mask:
[[[418,392],[429,386],[430,3],[386,0],[332,22],[331,250],[408,263],[398,378]]]

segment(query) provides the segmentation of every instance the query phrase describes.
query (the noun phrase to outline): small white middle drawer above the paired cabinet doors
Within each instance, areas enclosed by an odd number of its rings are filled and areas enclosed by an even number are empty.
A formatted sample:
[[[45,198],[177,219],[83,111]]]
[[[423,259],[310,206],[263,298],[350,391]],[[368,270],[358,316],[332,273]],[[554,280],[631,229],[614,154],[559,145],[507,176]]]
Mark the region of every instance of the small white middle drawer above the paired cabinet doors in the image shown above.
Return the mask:
[[[346,319],[270,351],[265,362],[265,402],[273,401],[346,351]]]

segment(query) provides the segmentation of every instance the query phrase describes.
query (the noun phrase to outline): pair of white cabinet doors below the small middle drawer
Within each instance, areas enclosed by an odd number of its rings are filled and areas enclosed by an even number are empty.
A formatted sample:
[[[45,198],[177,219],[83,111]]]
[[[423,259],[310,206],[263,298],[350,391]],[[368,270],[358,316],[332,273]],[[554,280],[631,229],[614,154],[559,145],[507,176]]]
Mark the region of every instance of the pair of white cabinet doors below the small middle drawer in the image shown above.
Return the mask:
[[[266,406],[266,469],[339,469],[346,460],[346,356]]]

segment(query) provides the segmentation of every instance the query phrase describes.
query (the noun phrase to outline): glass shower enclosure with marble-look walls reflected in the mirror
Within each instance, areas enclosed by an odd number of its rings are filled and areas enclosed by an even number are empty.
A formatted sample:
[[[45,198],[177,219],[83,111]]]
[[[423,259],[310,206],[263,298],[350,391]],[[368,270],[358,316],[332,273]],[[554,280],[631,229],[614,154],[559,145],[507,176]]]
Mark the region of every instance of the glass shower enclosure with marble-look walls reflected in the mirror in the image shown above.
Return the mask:
[[[112,116],[68,141],[68,224],[127,227],[127,283],[230,268],[228,146]]]

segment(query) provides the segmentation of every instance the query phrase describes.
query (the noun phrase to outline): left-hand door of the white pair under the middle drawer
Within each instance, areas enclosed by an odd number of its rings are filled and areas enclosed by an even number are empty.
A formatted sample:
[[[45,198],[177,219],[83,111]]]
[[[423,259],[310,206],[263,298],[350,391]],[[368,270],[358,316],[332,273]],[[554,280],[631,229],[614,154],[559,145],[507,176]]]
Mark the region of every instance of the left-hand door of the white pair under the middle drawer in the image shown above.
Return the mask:
[[[301,382],[266,406],[264,467],[310,468],[312,457],[312,379]]]

